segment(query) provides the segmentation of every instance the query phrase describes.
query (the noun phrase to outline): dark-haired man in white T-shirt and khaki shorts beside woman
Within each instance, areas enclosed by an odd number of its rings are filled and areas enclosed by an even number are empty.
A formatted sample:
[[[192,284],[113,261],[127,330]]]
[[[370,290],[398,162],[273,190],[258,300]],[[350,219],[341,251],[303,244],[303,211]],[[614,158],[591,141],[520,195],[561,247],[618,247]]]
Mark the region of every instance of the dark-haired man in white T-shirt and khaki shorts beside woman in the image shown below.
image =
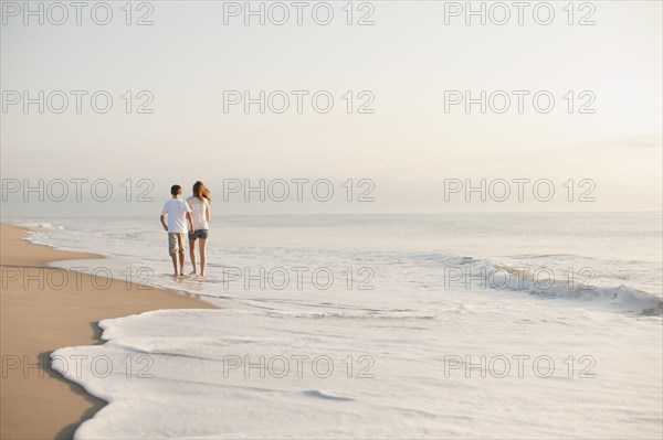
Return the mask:
[[[172,268],[176,277],[185,276],[185,249],[187,247],[187,227],[185,218],[189,221],[189,233],[193,233],[193,217],[191,208],[180,198],[182,187],[172,185],[170,187],[172,198],[166,202],[161,211],[161,226],[168,232],[168,253],[172,258]],[[166,219],[168,224],[166,224]],[[178,271],[179,256],[179,271]]]

